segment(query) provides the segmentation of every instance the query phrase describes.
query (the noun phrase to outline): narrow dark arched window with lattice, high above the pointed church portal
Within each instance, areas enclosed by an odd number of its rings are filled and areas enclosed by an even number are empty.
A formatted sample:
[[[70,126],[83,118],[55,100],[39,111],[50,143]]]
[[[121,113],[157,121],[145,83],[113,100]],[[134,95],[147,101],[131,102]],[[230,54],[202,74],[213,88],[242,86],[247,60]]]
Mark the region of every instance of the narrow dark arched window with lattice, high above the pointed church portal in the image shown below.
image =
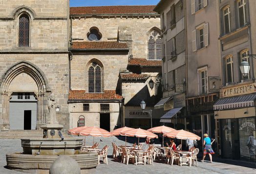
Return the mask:
[[[29,17],[25,14],[19,18],[19,47],[29,47]]]

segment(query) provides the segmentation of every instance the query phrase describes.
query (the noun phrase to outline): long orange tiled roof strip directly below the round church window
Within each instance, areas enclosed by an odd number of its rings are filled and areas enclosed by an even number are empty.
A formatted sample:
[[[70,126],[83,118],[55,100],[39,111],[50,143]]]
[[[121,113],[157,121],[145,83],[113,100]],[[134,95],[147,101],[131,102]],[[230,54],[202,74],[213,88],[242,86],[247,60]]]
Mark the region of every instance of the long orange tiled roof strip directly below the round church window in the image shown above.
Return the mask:
[[[119,42],[73,42],[71,49],[128,49],[126,43]]]

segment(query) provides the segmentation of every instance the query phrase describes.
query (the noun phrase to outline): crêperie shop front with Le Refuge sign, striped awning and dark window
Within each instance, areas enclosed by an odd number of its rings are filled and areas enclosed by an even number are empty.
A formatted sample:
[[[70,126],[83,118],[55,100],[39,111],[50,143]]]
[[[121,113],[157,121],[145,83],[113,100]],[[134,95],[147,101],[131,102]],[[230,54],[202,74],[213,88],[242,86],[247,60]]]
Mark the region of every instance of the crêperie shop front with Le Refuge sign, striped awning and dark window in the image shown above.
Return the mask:
[[[223,158],[242,159],[256,162],[256,93],[253,85],[244,85],[245,89],[252,93],[246,93],[243,86],[226,88],[223,90],[225,98],[219,99],[214,105],[214,116],[218,130],[219,154]],[[248,92],[248,91],[247,91]]]

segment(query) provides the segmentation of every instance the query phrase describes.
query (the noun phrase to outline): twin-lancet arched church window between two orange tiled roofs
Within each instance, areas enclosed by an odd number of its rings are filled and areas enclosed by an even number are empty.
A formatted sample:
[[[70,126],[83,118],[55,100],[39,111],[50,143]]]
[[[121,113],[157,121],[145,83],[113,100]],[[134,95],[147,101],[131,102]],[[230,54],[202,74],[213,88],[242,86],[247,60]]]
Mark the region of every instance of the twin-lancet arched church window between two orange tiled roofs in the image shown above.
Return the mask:
[[[88,70],[89,92],[101,92],[101,67],[93,62]]]

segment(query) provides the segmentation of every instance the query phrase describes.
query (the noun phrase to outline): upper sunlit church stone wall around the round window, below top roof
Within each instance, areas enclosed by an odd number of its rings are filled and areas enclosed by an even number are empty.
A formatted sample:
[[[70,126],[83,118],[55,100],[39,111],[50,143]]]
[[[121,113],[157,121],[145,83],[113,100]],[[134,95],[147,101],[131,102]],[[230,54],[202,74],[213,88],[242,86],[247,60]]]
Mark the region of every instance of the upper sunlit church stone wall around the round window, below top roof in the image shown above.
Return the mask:
[[[128,38],[132,39],[132,54],[133,58],[147,58],[148,57],[148,36],[153,28],[160,29],[160,18],[156,17],[110,17],[110,18],[94,18],[86,17],[72,19],[72,38],[81,38],[88,41],[87,33],[90,28],[97,27],[102,34],[100,41],[116,40],[118,37],[118,30],[130,34]],[[119,31],[120,33],[122,31]],[[111,39],[111,40],[109,40]],[[122,38],[120,38],[121,40]],[[129,44],[128,44],[129,46]]]

